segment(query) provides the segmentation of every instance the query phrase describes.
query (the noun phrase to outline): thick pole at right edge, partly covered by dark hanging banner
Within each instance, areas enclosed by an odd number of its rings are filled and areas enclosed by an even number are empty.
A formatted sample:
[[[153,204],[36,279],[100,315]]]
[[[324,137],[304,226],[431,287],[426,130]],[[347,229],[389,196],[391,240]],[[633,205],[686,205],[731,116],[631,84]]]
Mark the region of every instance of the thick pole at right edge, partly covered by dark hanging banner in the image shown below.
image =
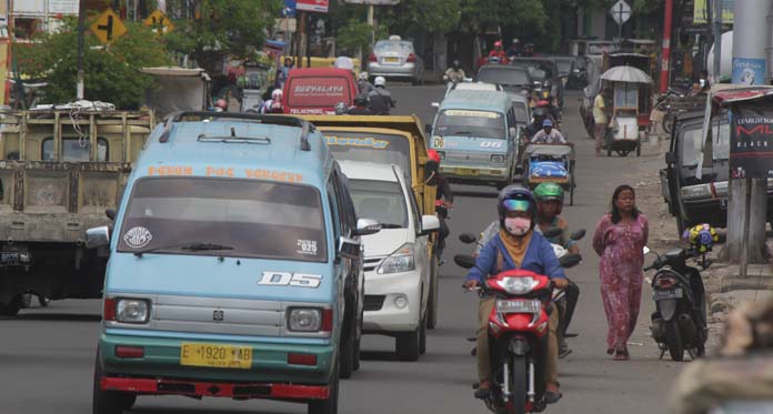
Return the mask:
[[[773,0],[735,2],[733,83],[739,83],[742,74],[750,69],[753,72],[762,71],[762,75],[754,77],[753,84],[763,84],[765,81],[765,49],[769,42],[765,18],[772,3]],[[766,221],[767,180],[731,179],[726,254],[730,261],[741,264],[742,276],[745,276],[747,261],[764,261]]]

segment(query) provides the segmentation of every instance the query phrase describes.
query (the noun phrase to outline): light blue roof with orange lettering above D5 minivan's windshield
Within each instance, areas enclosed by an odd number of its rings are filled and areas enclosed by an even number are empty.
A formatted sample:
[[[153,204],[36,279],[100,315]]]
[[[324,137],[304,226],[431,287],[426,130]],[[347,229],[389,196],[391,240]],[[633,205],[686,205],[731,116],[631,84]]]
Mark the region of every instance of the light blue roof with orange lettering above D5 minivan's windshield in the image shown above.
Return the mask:
[[[302,149],[299,127],[233,119],[174,122],[164,142],[165,128],[160,124],[148,138],[135,176],[252,178],[321,188],[333,163],[324,137],[313,127],[309,151]]]

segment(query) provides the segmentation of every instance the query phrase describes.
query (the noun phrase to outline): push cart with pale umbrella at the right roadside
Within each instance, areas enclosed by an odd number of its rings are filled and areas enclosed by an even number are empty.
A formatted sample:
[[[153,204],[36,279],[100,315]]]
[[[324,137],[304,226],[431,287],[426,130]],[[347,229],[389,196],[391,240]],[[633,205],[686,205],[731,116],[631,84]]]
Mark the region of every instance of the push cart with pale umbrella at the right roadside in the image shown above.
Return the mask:
[[[606,154],[616,152],[626,156],[636,151],[641,155],[642,135],[646,132],[652,107],[652,78],[633,67],[614,67],[601,75],[602,82],[612,85],[612,120],[606,132]]]

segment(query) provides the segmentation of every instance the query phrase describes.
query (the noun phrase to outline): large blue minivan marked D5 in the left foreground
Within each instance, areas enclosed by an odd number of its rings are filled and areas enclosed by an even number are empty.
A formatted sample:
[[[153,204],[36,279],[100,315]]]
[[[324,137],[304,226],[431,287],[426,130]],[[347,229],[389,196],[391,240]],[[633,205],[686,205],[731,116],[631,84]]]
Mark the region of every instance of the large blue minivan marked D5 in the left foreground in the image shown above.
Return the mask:
[[[93,413],[138,395],[272,398],[335,413],[359,365],[363,272],[345,176],[282,115],[183,112],[148,138],[108,246]]]

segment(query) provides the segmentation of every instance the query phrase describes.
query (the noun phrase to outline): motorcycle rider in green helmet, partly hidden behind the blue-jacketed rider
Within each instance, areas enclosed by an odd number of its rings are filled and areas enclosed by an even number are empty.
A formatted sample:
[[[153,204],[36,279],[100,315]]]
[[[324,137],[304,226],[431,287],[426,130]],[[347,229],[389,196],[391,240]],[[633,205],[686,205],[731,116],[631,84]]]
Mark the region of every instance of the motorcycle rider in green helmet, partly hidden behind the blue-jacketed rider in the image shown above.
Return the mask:
[[[566,249],[569,253],[579,254],[580,245],[575,240],[572,240],[569,234],[569,223],[561,214],[563,208],[563,188],[553,182],[544,182],[534,189],[534,199],[536,199],[538,224],[544,234],[552,229],[561,229],[561,234],[554,238],[548,238],[553,244],[558,244]],[[566,344],[566,329],[572,322],[574,309],[578,305],[580,297],[580,287],[572,281],[564,290],[566,293],[566,309],[563,310],[561,323],[558,330],[559,334],[559,357],[564,357],[572,353]]]

